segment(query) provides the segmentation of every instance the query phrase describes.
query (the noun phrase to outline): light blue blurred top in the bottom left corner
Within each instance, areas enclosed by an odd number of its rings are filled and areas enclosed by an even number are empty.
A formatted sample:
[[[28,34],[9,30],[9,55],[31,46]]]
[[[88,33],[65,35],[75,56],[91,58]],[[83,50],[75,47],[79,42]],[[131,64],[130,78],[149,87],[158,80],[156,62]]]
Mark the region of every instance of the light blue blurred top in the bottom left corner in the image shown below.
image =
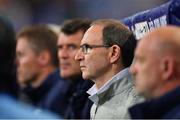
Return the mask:
[[[0,119],[57,119],[49,112],[34,112],[33,107],[22,104],[6,93],[0,94]]]

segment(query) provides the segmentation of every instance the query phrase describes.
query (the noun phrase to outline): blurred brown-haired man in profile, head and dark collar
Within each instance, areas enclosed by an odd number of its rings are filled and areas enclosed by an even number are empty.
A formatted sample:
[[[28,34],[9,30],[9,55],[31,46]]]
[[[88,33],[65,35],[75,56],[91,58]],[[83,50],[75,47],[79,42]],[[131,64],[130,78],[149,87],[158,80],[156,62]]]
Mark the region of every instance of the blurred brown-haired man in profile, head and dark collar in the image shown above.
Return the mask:
[[[18,83],[30,102],[38,107],[60,80],[56,44],[57,35],[44,25],[25,27],[17,35]]]

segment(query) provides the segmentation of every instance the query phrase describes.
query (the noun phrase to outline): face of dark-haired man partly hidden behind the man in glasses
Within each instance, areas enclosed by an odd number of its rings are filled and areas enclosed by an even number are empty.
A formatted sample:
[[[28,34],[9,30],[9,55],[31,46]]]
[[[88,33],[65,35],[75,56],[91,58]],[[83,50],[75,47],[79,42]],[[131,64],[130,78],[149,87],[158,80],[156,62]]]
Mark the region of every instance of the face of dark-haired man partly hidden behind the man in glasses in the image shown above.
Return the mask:
[[[61,33],[59,36],[58,58],[62,78],[73,78],[81,75],[79,62],[75,61],[74,57],[79,49],[82,37],[82,31],[72,35]]]

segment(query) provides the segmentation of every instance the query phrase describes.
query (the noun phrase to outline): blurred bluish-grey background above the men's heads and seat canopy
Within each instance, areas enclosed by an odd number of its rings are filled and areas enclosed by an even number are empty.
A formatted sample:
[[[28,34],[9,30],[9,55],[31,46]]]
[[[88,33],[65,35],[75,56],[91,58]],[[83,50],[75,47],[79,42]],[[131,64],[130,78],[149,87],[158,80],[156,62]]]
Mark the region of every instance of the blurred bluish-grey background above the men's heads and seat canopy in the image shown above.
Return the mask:
[[[0,14],[13,22],[15,30],[27,24],[61,24],[71,18],[121,20],[168,0],[0,0]]]

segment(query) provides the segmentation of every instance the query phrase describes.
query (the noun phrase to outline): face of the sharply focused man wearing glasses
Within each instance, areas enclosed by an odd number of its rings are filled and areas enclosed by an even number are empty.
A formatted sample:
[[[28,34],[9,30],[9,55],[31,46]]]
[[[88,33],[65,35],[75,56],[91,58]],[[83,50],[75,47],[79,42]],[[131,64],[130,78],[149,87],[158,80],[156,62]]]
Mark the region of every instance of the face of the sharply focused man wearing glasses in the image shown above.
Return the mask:
[[[90,27],[85,33],[81,45],[103,45],[102,29],[103,27],[99,25]],[[81,48],[75,59],[80,61],[84,79],[102,79],[110,68],[108,48],[106,47],[91,48],[88,53],[83,53]]]

